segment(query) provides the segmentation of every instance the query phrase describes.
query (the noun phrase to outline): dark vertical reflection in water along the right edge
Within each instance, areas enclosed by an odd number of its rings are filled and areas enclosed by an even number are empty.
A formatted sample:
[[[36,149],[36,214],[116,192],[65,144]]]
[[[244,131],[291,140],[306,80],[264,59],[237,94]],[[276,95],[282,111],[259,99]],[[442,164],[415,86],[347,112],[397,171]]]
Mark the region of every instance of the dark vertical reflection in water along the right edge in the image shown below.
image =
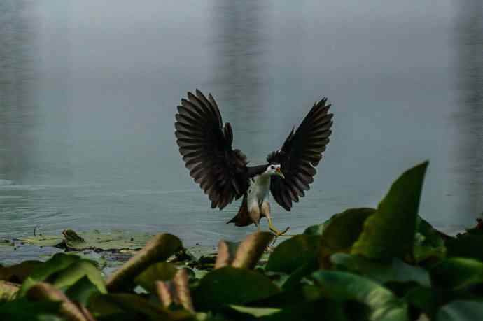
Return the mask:
[[[458,41],[458,113],[461,137],[457,150],[460,186],[465,190],[468,218],[483,210],[483,3],[460,2]]]

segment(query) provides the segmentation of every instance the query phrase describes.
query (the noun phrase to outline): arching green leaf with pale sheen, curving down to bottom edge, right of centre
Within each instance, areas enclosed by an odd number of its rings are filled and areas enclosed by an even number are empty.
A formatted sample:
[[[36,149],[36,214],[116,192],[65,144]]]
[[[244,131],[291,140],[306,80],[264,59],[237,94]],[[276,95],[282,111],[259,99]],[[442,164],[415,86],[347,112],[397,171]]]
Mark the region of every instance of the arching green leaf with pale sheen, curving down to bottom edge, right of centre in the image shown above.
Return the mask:
[[[407,305],[386,287],[368,278],[339,271],[317,271],[312,277],[324,297],[367,305],[370,308],[369,320],[409,320]]]

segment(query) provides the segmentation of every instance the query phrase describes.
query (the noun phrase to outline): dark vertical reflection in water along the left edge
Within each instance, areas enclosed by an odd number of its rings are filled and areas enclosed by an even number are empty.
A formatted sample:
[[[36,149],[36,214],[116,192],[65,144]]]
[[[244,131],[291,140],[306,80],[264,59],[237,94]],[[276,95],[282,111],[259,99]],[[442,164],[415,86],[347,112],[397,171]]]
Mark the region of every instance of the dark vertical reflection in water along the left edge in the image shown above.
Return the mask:
[[[32,169],[29,147],[35,140],[30,6],[30,1],[0,1],[0,179],[15,182]]]

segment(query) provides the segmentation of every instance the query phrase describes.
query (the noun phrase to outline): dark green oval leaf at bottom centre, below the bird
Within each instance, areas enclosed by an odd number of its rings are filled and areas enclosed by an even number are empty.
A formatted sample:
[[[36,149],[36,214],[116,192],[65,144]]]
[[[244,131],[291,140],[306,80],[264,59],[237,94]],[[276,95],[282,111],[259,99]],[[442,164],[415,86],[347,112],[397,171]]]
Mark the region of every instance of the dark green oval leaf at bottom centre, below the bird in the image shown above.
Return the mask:
[[[262,274],[225,266],[208,273],[195,290],[195,308],[202,311],[227,304],[267,298],[280,290]]]

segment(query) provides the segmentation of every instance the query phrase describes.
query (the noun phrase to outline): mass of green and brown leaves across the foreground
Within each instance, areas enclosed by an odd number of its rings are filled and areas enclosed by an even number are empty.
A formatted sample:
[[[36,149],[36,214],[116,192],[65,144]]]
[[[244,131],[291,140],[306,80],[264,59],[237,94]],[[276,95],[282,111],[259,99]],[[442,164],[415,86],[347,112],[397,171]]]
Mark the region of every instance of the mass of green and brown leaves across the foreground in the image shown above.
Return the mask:
[[[421,219],[427,165],[274,249],[258,232],[197,257],[158,234],[108,278],[66,253],[0,266],[0,320],[483,320],[483,231]]]

